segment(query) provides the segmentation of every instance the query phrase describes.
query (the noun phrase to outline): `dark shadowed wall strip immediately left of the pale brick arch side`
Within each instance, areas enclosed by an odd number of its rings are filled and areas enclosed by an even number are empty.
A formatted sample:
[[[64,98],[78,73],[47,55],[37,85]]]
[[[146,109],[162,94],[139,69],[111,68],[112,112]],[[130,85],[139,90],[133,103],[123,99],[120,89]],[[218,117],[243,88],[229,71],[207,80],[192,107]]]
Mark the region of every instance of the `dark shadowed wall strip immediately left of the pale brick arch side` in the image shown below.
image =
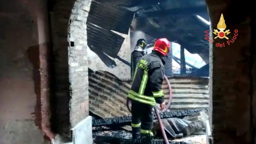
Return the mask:
[[[52,100],[52,130],[64,137],[70,137],[70,81],[68,65],[68,26],[70,12],[75,3],[69,0],[56,1],[51,17],[51,32],[53,43],[53,100]]]

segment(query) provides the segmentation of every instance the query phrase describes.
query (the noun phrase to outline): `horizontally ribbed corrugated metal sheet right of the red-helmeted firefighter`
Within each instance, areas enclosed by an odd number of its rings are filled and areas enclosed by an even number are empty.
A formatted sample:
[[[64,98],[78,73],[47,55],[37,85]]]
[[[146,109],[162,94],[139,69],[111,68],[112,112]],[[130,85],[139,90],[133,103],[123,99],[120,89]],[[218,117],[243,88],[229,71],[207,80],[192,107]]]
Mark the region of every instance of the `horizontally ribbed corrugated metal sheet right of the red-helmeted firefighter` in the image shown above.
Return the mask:
[[[168,78],[172,88],[171,110],[199,109],[209,107],[208,78],[175,77]],[[163,83],[165,101],[168,102],[169,89]]]

